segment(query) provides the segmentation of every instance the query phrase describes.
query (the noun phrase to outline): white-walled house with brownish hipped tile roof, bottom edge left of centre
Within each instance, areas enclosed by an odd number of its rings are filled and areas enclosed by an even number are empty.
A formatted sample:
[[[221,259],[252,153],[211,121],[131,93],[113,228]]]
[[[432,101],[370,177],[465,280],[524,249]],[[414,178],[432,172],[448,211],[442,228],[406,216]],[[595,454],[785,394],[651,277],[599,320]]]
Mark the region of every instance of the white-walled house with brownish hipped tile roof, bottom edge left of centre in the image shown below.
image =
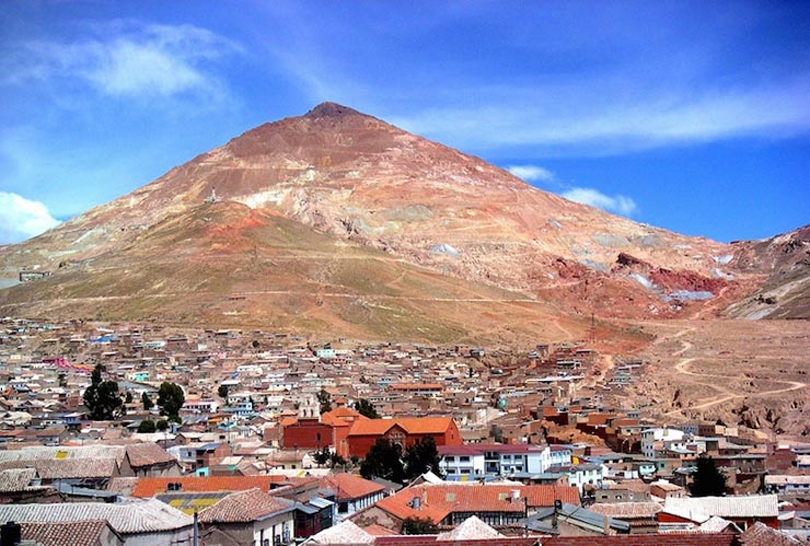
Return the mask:
[[[294,501],[259,488],[230,493],[199,512],[207,542],[233,546],[287,545],[293,539]]]

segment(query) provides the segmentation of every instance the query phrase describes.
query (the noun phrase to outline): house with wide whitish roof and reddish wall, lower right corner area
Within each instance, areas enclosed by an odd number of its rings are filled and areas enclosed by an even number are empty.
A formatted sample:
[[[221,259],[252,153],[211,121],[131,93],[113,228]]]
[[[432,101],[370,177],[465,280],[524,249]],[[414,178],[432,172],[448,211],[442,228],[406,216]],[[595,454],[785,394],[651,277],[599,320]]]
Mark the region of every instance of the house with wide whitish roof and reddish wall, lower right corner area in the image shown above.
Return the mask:
[[[756,522],[778,528],[779,510],[776,495],[729,497],[668,497],[658,515],[660,528],[699,525],[711,516],[719,516],[745,530]]]

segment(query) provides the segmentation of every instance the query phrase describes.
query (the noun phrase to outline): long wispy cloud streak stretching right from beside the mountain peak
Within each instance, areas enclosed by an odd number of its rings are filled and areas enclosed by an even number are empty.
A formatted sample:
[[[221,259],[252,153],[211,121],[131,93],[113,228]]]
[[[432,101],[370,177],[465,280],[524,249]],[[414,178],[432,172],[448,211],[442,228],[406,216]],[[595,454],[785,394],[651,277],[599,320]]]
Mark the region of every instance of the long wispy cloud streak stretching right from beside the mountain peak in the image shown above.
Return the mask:
[[[490,106],[431,106],[395,121],[467,149],[590,146],[602,153],[810,131],[810,77],[759,89],[648,90],[644,97],[604,105],[590,91],[562,93],[540,86],[530,93],[532,101],[519,91],[490,90],[489,94],[495,95],[487,101]]]

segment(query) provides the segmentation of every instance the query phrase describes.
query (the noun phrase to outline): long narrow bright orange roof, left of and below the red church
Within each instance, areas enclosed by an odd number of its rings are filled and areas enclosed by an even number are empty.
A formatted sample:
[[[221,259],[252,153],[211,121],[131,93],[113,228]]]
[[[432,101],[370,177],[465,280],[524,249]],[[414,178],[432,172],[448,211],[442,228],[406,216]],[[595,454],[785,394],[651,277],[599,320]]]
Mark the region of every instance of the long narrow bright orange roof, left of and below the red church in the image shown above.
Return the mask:
[[[315,478],[296,478],[279,475],[139,478],[132,488],[132,497],[143,499],[154,497],[158,493],[165,492],[169,489],[169,484],[181,484],[181,491],[184,492],[244,491],[254,487],[268,491],[271,486],[275,488],[314,480]]]

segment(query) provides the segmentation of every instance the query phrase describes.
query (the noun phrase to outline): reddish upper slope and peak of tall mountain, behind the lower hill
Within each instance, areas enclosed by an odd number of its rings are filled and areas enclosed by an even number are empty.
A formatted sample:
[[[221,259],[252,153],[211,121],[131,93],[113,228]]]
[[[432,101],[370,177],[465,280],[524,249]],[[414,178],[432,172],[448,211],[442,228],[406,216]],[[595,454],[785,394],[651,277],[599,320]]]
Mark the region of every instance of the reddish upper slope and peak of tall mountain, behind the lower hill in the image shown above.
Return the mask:
[[[143,234],[215,193],[409,264],[582,314],[705,313],[753,290],[760,278],[729,263],[729,245],[568,201],[333,103],[252,129],[127,196],[0,251],[2,274],[56,270],[125,248],[137,254],[132,245],[142,244]],[[616,268],[621,253],[645,270]]]

